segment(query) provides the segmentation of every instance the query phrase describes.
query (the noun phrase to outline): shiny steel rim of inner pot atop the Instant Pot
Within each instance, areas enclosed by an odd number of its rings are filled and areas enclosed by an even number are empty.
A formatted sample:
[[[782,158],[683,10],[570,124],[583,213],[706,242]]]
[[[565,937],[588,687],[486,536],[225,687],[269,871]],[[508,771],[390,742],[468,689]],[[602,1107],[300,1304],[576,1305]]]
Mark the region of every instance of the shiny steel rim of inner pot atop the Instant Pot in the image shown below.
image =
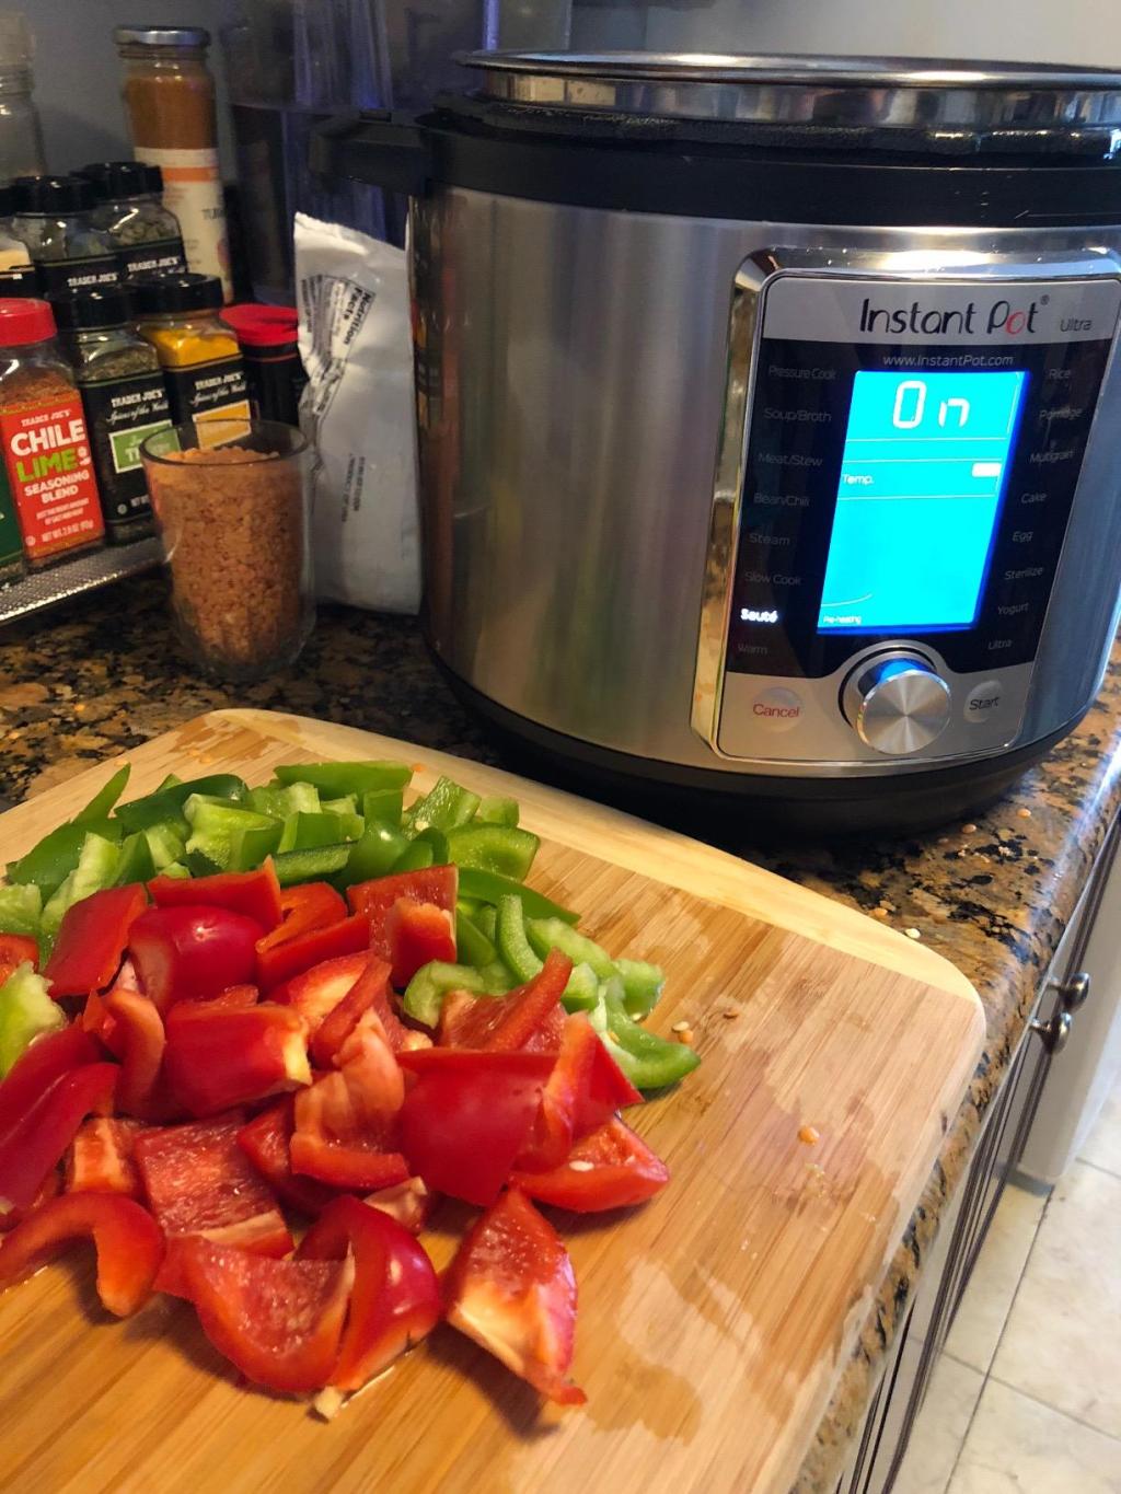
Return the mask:
[[[670,120],[906,130],[1121,128],[1121,73],[1043,63],[707,52],[466,52],[477,96]]]

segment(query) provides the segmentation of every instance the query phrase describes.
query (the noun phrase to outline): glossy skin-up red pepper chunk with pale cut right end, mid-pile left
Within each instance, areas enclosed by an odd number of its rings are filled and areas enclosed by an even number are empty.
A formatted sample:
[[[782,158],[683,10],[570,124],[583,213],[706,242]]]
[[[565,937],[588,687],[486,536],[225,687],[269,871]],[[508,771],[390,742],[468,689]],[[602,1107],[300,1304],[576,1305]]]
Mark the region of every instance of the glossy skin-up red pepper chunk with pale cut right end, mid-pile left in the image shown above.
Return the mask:
[[[172,1095],[199,1118],[311,1083],[303,1022],[271,1002],[181,1002],[167,1013],[163,1062]]]

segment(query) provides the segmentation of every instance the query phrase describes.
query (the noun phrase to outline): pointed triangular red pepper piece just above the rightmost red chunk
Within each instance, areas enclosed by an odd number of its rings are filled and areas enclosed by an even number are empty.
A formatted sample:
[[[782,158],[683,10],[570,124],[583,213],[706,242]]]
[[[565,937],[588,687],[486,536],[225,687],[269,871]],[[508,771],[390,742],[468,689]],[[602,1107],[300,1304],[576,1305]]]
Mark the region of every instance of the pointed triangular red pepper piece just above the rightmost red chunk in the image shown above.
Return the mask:
[[[560,1167],[574,1141],[605,1125],[620,1106],[640,1104],[641,1098],[583,1011],[574,1013],[565,1022],[560,1053],[517,1167]]]

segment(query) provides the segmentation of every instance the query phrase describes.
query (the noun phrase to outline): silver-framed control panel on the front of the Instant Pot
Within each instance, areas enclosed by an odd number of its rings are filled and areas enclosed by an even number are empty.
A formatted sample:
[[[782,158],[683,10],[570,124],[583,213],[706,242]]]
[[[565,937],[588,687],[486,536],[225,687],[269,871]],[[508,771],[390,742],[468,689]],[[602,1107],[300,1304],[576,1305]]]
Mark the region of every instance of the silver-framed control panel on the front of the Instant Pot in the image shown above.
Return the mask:
[[[1120,314],[1108,275],[765,284],[722,753],[1015,737]]]

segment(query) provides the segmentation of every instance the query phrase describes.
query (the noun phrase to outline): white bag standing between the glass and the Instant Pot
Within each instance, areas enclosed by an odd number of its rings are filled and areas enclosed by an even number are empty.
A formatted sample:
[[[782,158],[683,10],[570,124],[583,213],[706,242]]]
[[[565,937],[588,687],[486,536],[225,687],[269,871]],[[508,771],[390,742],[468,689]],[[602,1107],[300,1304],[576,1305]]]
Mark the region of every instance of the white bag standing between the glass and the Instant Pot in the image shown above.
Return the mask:
[[[402,249],[296,214],[300,426],[314,442],[315,590],[389,613],[420,605],[408,270]]]

